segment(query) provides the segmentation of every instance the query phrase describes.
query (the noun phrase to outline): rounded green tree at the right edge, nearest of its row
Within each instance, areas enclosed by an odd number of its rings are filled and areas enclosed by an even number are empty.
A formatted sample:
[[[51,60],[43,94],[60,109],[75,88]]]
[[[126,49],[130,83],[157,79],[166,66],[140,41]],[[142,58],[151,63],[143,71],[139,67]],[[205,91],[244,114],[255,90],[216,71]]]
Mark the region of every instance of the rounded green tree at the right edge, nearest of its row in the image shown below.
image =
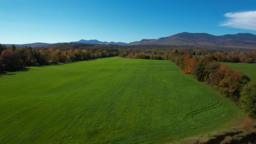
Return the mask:
[[[244,86],[240,97],[240,107],[250,117],[256,118],[256,82],[249,82]]]

